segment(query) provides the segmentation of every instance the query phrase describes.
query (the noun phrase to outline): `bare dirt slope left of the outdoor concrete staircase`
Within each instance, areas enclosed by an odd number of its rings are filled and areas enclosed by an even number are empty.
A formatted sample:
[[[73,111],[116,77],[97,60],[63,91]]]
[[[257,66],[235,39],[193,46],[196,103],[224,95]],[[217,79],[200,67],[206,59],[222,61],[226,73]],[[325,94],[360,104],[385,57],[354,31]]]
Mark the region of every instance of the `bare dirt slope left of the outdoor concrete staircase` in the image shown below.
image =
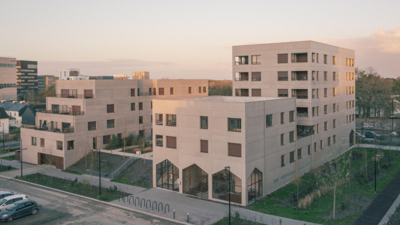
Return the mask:
[[[77,162],[68,167],[69,170],[74,170],[78,172],[84,172],[86,169],[90,169],[90,156],[83,156]],[[123,161],[123,156],[118,154],[110,154],[101,152],[100,160],[105,160],[101,162],[101,172],[111,173],[117,169],[117,166]],[[98,152],[96,152],[95,160],[93,163],[93,170],[98,171]]]

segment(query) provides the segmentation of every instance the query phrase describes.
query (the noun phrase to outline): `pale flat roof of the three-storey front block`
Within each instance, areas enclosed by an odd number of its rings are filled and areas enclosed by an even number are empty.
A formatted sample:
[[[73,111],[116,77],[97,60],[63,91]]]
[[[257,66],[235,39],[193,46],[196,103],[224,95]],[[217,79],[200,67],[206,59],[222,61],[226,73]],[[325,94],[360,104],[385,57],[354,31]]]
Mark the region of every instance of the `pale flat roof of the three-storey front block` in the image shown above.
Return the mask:
[[[214,102],[254,102],[254,101],[286,99],[286,98],[290,98],[290,97],[203,96],[203,97],[168,98],[168,99],[162,99],[162,100],[214,101]]]

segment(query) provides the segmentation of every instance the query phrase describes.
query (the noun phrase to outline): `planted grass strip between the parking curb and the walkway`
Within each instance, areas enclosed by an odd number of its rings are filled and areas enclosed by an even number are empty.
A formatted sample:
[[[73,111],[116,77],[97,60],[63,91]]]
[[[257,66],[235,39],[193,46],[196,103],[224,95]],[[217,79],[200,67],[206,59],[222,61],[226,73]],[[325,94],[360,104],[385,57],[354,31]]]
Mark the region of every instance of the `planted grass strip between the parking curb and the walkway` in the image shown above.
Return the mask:
[[[15,178],[21,179],[20,176],[16,176]],[[41,173],[33,173],[29,175],[24,175],[22,180],[29,181],[32,183],[37,183],[40,185],[56,188],[59,190],[68,191],[71,193],[80,194],[86,197],[96,198],[103,201],[112,201],[118,198],[119,194],[129,194],[122,191],[119,191],[117,187],[109,186],[104,187],[101,186],[101,195],[98,192],[98,186],[92,185],[90,187],[90,183],[86,180],[78,181],[77,178],[72,179],[63,179],[59,177],[50,177],[49,175],[41,174]]]

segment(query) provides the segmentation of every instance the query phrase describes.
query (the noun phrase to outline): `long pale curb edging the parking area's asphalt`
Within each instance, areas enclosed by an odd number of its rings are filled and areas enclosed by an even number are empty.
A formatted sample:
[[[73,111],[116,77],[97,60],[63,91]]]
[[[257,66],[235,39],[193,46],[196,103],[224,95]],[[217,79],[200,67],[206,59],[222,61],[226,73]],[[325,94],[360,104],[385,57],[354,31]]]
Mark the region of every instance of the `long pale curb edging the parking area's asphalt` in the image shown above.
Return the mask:
[[[33,185],[44,187],[44,188],[48,188],[48,189],[51,189],[51,190],[54,190],[54,191],[59,191],[59,192],[67,193],[67,194],[72,194],[72,195],[77,196],[77,197],[83,197],[83,198],[94,200],[94,201],[97,201],[97,202],[100,202],[100,203],[105,203],[105,204],[108,204],[108,205],[111,205],[111,206],[114,206],[114,207],[123,208],[125,210],[130,210],[130,211],[138,212],[138,213],[141,213],[141,214],[146,214],[146,215],[150,215],[150,216],[153,216],[153,217],[157,217],[157,218],[160,218],[160,219],[165,219],[165,220],[168,220],[168,221],[171,221],[171,222],[176,222],[176,223],[180,223],[180,224],[190,224],[190,223],[187,223],[187,222],[182,222],[182,221],[174,220],[174,219],[171,219],[171,218],[162,217],[162,216],[151,214],[151,213],[148,213],[148,212],[145,212],[145,211],[140,211],[140,210],[137,210],[137,209],[128,208],[128,207],[125,207],[125,206],[122,206],[122,205],[119,205],[119,204],[114,204],[114,203],[110,203],[110,202],[107,202],[107,201],[101,201],[101,200],[98,200],[98,199],[95,199],[95,198],[86,197],[86,196],[75,194],[75,193],[71,193],[71,192],[68,192],[68,191],[59,190],[59,189],[55,189],[55,188],[52,188],[52,187],[40,185],[40,184],[37,184],[37,183],[28,182],[28,181],[25,181],[25,180],[15,179],[15,178],[4,176],[4,175],[0,175],[0,177],[4,178],[4,179],[12,179],[12,180],[21,181],[21,182],[24,182],[24,183],[33,184]]]

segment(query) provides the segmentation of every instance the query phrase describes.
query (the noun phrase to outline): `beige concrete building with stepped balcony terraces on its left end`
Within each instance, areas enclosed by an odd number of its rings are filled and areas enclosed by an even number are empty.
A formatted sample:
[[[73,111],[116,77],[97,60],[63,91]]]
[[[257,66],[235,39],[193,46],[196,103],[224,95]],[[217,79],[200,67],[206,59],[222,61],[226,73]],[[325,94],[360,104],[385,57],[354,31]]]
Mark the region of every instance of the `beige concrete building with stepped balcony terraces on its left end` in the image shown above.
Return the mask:
[[[56,95],[46,98],[46,109],[36,113],[35,124],[21,128],[22,147],[27,148],[23,159],[41,164],[43,154],[52,154],[56,167],[64,169],[86,152],[108,144],[112,134],[152,136],[153,99],[204,96],[207,82],[57,80]]]

